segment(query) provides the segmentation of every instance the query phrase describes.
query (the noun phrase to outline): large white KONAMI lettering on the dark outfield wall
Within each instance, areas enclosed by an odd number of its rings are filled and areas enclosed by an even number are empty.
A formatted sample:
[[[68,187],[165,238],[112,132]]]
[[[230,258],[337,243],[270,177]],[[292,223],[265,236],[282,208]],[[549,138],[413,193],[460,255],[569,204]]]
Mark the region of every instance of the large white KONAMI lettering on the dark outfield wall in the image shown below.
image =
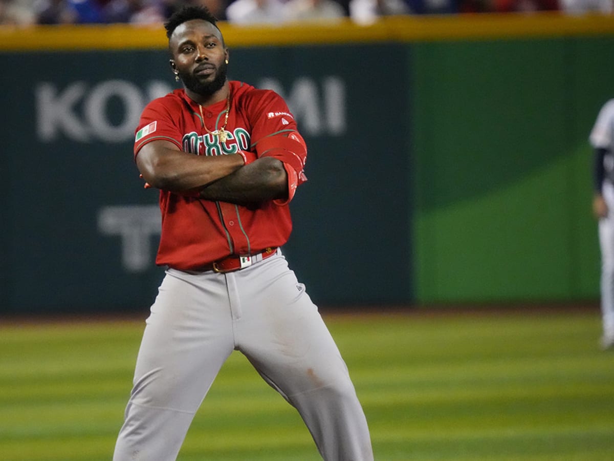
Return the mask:
[[[265,78],[258,86],[274,90],[286,100],[304,135],[346,133],[346,87],[340,77],[327,76],[321,81],[299,77],[289,89],[276,79]],[[163,81],[151,81],[144,87],[120,79],[92,86],[77,81],[66,87],[41,82],[34,89],[37,136],[46,143],[61,136],[80,143],[130,141],[145,104],[172,90]],[[107,113],[112,99],[120,101],[122,108],[114,122]]]

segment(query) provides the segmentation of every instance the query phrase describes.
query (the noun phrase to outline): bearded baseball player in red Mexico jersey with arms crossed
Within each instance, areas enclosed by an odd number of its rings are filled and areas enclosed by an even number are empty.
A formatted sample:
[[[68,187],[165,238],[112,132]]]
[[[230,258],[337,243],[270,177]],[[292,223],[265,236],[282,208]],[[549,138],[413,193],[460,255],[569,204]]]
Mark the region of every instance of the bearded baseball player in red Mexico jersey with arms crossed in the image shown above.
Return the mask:
[[[184,89],[153,100],[134,158],[160,189],[156,262],[168,267],[136,361],[115,461],[177,457],[233,350],[294,406],[325,460],[373,460],[367,420],[327,327],[279,249],[305,141],[279,95],[227,81],[228,49],[203,7],[165,24]]]

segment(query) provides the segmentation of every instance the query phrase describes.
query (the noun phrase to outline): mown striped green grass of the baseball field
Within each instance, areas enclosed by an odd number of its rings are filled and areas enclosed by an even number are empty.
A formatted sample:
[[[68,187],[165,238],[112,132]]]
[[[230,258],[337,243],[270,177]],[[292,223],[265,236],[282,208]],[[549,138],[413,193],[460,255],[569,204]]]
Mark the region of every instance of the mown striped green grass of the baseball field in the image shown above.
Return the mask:
[[[597,310],[324,317],[376,460],[614,459],[614,352],[599,350]],[[110,460],[143,325],[0,325],[0,459]],[[239,353],[179,455],[319,459],[298,414]]]

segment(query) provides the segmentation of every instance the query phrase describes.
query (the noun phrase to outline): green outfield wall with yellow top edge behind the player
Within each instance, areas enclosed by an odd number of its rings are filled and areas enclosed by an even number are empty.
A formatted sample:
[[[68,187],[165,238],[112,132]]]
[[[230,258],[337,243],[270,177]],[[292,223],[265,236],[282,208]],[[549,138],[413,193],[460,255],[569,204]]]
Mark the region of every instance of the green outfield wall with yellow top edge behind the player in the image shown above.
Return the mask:
[[[291,266],[319,304],[597,297],[586,138],[614,95],[614,21],[220,25],[230,77],[287,98],[309,146]],[[131,158],[173,89],[163,31],[0,31],[0,313],[141,310],[157,194]]]

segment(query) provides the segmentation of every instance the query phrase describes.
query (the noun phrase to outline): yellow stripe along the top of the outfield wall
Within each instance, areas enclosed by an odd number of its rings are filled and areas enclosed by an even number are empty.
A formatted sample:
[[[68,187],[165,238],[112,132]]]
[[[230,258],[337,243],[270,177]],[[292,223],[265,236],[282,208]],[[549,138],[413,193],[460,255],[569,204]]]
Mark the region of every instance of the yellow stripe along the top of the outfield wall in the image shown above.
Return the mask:
[[[229,47],[484,40],[524,37],[613,35],[614,17],[542,14],[476,14],[384,18],[372,26],[238,27],[219,23]],[[0,27],[0,51],[165,49],[162,26],[63,25]]]

